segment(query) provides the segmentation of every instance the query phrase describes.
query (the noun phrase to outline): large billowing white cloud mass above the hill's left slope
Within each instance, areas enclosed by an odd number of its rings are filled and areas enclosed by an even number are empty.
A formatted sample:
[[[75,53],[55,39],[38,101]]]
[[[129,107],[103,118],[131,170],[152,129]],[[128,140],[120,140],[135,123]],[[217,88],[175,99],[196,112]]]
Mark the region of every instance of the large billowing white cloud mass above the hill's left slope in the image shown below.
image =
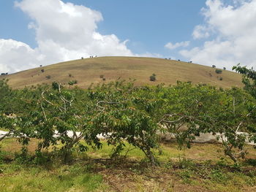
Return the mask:
[[[103,35],[97,23],[100,12],[61,0],[16,1],[15,7],[29,15],[29,28],[35,31],[37,47],[13,39],[0,39],[0,70],[23,69],[69,61],[89,55],[134,55],[115,34]]]

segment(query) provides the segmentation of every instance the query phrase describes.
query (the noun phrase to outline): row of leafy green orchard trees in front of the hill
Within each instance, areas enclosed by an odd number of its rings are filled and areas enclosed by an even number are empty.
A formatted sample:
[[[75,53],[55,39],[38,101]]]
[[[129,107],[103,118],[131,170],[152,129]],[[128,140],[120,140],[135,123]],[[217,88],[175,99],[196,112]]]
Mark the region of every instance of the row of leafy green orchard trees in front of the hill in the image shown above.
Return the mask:
[[[120,154],[127,141],[151,164],[157,164],[152,149],[159,147],[159,132],[175,134],[180,147],[191,147],[202,133],[219,134],[224,153],[236,162],[247,153],[246,142],[256,142],[254,93],[190,82],[135,86],[124,81],[86,90],[58,82],[12,90],[1,80],[0,127],[23,145],[39,139],[38,151],[54,147],[64,160],[74,149],[100,148],[102,135],[113,146],[113,155]]]

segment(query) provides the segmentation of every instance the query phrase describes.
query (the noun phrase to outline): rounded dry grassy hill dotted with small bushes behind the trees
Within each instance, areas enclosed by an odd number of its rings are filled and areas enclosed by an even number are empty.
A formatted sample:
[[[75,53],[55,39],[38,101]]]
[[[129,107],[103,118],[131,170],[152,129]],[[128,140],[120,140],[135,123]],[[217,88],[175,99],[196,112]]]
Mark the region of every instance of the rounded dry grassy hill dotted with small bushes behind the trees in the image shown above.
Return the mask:
[[[44,72],[41,71],[42,69]],[[153,73],[157,74],[155,82],[149,81],[149,76]],[[53,81],[67,83],[70,80],[78,80],[78,86],[86,88],[92,82],[103,82],[99,78],[101,74],[104,75],[105,82],[121,77],[124,80],[135,79],[138,85],[157,85],[161,82],[173,85],[180,80],[192,83],[203,82],[222,88],[242,86],[241,75],[234,72],[223,70],[222,74],[217,74],[215,69],[209,66],[162,58],[135,57],[85,58],[2,75],[0,79],[10,79],[9,84],[12,88],[23,88]],[[222,80],[219,80],[220,77]]]

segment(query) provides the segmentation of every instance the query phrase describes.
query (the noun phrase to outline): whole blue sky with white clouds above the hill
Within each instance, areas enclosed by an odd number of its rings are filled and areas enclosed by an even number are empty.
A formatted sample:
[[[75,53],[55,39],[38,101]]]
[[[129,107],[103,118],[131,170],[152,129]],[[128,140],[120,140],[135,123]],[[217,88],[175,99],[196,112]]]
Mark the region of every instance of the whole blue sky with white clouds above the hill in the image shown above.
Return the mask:
[[[256,67],[256,0],[1,0],[0,72],[97,56]]]

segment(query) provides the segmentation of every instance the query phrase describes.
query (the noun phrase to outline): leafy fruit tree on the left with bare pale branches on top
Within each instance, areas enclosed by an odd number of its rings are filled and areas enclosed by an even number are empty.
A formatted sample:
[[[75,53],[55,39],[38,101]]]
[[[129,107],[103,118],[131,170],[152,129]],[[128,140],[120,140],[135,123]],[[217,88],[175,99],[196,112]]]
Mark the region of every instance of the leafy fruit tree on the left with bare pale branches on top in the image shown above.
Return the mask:
[[[41,90],[41,97],[31,102],[34,108],[29,113],[29,122],[34,127],[34,134],[31,134],[31,137],[41,140],[38,150],[61,142],[61,152],[64,155],[64,161],[67,162],[72,147],[79,145],[80,139],[83,138],[82,132],[77,133],[83,126],[80,108],[73,104],[75,95],[62,88],[58,82],[53,82],[52,89],[46,87]],[[79,147],[80,150],[86,149],[83,145]]]

